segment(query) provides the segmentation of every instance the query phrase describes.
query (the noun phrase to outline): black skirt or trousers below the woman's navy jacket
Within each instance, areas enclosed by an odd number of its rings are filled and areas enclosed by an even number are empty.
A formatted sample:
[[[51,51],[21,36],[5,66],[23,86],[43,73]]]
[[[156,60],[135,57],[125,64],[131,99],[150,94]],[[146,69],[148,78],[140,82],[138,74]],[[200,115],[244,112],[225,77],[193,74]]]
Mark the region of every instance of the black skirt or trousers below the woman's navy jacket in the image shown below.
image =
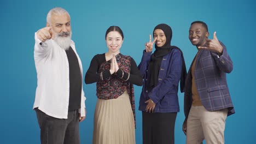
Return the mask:
[[[143,144],[174,143],[174,125],[177,112],[142,112]]]

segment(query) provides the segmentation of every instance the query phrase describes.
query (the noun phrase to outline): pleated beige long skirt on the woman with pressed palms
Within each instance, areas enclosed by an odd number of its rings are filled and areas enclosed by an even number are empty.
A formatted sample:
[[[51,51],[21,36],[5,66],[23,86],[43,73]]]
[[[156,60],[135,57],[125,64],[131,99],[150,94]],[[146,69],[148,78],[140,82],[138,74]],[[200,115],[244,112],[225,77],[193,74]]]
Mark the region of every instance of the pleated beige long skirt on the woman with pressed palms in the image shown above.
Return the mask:
[[[135,143],[135,125],[127,92],[117,99],[97,100],[92,143]]]

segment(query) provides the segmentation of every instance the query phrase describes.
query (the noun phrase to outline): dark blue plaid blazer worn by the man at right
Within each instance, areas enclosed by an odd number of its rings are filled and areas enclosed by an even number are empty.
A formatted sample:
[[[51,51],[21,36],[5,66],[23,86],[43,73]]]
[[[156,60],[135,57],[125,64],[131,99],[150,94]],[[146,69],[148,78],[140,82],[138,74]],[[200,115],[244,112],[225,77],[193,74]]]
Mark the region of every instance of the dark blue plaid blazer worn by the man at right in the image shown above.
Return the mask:
[[[235,113],[232,104],[228,84],[226,82],[226,73],[233,69],[232,61],[226,51],[224,44],[222,56],[218,57],[216,52],[209,50],[200,50],[195,63],[194,79],[197,92],[202,101],[202,105],[208,111],[216,111],[228,108],[228,116]],[[190,65],[184,88],[184,113],[188,118],[192,105],[192,75]]]

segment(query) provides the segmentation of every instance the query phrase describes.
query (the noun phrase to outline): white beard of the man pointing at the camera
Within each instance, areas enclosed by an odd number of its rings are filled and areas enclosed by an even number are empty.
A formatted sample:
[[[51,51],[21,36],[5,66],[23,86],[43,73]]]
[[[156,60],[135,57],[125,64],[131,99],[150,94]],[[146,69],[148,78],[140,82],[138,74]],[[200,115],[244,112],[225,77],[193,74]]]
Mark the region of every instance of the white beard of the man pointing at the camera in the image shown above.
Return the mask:
[[[54,41],[63,49],[68,50],[71,44],[71,35],[72,32],[68,32],[69,35],[67,37],[62,37],[60,34],[56,34]]]

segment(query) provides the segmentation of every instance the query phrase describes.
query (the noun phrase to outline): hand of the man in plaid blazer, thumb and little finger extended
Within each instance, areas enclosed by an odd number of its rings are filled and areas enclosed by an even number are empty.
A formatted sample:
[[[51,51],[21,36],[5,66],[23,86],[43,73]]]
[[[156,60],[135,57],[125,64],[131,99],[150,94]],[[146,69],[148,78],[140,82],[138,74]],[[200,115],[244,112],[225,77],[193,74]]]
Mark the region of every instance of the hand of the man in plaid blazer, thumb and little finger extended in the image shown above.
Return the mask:
[[[223,47],[219,43],[216,32],[213,33],[213,39],[206,40],[206,46],[199,46],[198,49],[207,49],[216,52],[219,56],[221,56],[223,52]]]

